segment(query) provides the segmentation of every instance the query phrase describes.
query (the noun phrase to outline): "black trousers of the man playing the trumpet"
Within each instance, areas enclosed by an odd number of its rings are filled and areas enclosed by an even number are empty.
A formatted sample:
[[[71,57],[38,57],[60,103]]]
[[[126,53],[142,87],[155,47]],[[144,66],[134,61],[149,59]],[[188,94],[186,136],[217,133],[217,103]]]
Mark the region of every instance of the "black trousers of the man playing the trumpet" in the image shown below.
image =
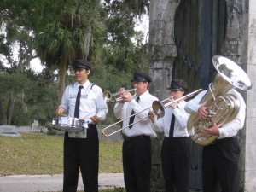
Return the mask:
[[[150,192],[151,151],[150,137],[125,138],[123,167],[126,192]]]

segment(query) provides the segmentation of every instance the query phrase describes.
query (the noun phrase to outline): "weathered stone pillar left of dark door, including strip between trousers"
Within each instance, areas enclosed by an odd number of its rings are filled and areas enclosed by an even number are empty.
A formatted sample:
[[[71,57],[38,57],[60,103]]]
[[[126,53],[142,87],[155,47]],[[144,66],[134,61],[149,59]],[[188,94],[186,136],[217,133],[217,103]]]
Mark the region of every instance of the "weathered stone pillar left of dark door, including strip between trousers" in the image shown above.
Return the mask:
[[[153,81],[149,89],[160,101],[169,93],[166,90],[172,80],[172,65],[177,57],[174,43],[174,15],[177,0],[151,1],[149,13],[149,74]],[[152,192],[164,191],[164,179],[160,163],[162,134],[152,140]]]

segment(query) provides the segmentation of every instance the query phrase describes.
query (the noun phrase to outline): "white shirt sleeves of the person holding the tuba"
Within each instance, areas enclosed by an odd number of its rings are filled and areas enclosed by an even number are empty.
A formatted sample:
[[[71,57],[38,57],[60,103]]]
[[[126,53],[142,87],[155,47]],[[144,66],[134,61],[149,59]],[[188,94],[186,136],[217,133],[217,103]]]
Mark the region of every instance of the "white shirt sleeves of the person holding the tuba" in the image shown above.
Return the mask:
[[[207,90],[201,91],[197,96],[195,96],[194,99],[187,102],[185,106],[185,110],[187,113],[198,112],[198,109],[201,107],[201,104],[199,104],[199,102],[201,101],[201,98],[205,95],[206,92]],[[241,94],[237,92],[235,89],[230,90],[228,94],[236,96],[236,98],[240,102],[240,110],[233,120],[220,127],[218,139],[236,136],[237,132],[243,127],[245,121],[246,104]]]

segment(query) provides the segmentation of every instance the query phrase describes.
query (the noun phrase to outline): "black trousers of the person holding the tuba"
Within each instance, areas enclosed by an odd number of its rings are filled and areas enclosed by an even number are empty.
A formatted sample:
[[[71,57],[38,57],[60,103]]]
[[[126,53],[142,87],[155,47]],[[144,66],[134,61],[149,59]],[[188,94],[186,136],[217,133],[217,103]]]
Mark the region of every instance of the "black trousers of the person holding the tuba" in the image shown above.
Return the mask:
[[[203,148],[203,191],[215,192],[219,183],[222,192],[239,191],[240,149],[236,137],[217,140]]]

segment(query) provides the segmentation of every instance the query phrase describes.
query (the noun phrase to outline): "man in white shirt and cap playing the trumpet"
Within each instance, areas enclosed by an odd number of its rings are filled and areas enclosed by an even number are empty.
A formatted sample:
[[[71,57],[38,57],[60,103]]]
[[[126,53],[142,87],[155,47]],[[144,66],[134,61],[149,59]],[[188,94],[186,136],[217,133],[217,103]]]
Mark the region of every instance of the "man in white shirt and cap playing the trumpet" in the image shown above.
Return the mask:
[[[127,192],[149,192],[151,172],[151,141],[150,137],[156,137],[148,119],[149,108],[158,99],[148,92],[148,84],[151,78],[145,73],[134,73],[133,79],[136,95],[120,89],[122,101],[115,104],[113,111],[117,119],[125,119],[131,116],[133,110],[134,121],[140,122],[123,130],[123,167],[125,177],[125,189]],[[147,110],[144,110],[147,109]],[[144,110],[144,111],[143,111]],[[141,113],[140,113],[141,112]],[[125,119],[123,127],[132,124],[132,118]]]

